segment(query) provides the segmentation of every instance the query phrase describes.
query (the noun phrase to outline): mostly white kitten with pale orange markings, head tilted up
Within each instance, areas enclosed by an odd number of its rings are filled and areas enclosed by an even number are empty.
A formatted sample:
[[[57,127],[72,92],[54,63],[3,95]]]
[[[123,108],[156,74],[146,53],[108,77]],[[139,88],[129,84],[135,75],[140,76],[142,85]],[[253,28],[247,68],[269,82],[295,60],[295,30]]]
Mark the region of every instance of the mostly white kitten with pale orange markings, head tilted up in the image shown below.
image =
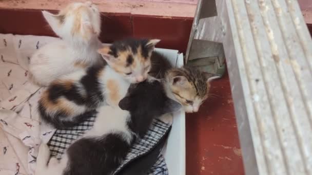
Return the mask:
[[[102,47],[98,39],[101,18],[91,2],[72,3],[58,14],[42,11],[54,33],[62,40],[49,43],[30,58],[29,71],[32,80],[43,86],[65,74],[103,64],[97,49]]]

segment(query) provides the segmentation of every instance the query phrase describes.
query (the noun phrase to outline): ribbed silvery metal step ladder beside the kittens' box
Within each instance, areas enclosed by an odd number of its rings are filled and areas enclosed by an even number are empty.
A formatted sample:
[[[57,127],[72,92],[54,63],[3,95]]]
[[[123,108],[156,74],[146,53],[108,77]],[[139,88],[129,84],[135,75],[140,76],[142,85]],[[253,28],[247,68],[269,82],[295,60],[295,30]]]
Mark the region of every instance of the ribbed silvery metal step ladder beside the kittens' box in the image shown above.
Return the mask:
[[[216,6],[190,40],[223,43],[246,174],[312,174],[312,40],[298,2]]]

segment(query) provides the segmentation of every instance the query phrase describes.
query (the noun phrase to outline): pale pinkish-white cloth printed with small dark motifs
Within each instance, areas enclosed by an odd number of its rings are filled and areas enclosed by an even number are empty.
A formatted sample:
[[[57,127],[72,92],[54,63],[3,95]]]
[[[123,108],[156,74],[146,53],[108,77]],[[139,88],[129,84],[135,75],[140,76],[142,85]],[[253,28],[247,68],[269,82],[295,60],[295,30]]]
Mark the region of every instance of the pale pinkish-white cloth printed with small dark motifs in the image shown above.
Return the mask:
[[[33,174],[38,145],[52,128],[40,128],[37,101],[44,88],[28,81],[31,55],[59,38],[0,34],[0,175]]]

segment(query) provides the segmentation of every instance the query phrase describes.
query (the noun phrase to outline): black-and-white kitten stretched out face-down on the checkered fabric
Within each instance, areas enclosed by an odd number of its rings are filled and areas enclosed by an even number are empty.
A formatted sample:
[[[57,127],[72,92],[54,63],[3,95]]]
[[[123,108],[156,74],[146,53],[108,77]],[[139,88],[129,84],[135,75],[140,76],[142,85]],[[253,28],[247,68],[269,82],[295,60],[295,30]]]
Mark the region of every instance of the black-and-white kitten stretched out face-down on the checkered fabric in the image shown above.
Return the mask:
[[[47,165],[49,148],[42,144],[36,175],[112,174],[154,118],[181,107],[166,96],[162,83],[155,79],[131,85],[119,106],[100,107],[93,128],[69,146],[60,162],[52,158]]]

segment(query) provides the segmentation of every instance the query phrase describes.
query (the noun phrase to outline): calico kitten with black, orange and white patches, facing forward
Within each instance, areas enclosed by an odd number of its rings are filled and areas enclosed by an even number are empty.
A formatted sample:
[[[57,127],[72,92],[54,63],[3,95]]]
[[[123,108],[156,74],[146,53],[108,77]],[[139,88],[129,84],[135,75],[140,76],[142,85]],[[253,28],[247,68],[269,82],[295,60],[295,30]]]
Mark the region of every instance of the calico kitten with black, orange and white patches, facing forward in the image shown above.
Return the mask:
[[[94,65],[53,81],[43,92],[38,110],[41,119],[55,128],[79,123],[81,114],[106,102],[116,106],[130,83],[144,81],[151,67],[150,56],[159,39],[124,39],[105,46],[99,53],[107,65]]]

